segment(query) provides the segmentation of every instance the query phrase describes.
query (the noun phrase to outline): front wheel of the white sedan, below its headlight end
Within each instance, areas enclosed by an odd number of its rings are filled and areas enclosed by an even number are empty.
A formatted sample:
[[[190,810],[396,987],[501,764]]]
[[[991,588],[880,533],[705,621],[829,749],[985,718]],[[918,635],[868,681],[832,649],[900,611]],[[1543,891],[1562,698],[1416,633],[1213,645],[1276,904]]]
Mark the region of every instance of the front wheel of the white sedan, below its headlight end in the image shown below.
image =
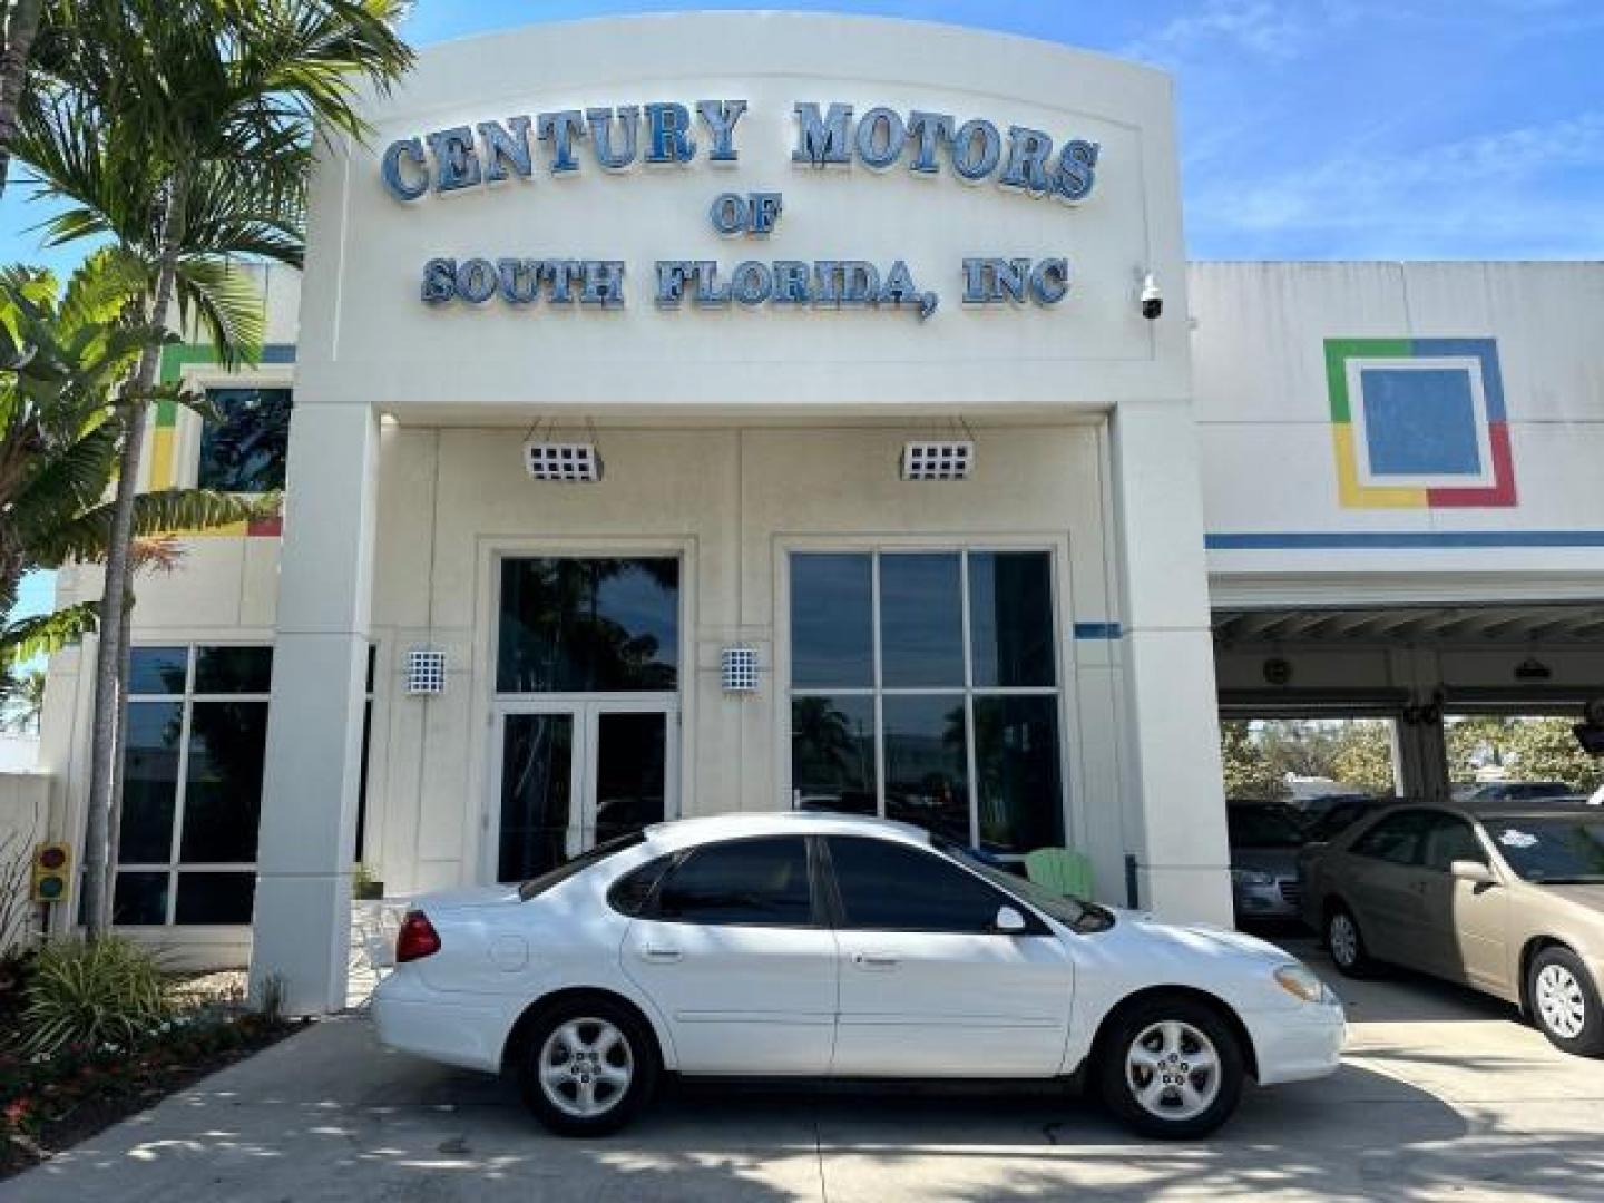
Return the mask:
[[[1177,1025],[1181,1035],[1174,1059],[1161,1030],[1168,1023]],[[1156,1060],[1152,1070],[1136,1063],[1139,1043]],[[1206,1046],[1213,1046],[1213,1071],[1192,1063],[1208,1055]],[[1171,1071],[1176,1084],[1168,1084],[1171,1075],[1163,1070]],[[1099,1043],[1096,1078],[1104,1104],[1128,1128],[1161,1140],[1190,1140],[1217,1129],[1237,1110],[1246,1076],[1235,1028],[1214,1007],[1179,994],[1148,998],[1129,1007],[1115,1017]],[[1203,1097],[1189,1100],[1181,1078]],[[1201,1110],[1190,1110],[1205,1099]],[[1166,1110],[1173,1115],[1165,1115]]]

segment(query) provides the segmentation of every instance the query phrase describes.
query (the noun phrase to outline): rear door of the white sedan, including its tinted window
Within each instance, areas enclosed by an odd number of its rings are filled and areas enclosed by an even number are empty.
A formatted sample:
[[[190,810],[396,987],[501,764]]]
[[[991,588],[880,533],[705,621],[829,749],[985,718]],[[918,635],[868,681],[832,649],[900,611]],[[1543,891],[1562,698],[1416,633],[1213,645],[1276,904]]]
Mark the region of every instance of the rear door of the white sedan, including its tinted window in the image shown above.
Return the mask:
[[[624,972],[656,1004],[687,1073],[823,1075],[836,1033],[836,935],[804,836],[685,852],[630,922]]]

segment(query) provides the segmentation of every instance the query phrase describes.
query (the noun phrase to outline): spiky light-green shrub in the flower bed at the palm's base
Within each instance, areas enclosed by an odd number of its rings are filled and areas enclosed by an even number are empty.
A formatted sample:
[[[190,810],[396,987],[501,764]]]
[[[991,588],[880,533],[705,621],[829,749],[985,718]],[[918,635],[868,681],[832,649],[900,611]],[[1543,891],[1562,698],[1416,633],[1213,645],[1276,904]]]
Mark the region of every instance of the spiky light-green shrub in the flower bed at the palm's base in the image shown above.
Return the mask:
[[[127,1046],[172,1015],[156,958],[132,940],[56,940],[38,950],[22,1003],[22,1047]]]

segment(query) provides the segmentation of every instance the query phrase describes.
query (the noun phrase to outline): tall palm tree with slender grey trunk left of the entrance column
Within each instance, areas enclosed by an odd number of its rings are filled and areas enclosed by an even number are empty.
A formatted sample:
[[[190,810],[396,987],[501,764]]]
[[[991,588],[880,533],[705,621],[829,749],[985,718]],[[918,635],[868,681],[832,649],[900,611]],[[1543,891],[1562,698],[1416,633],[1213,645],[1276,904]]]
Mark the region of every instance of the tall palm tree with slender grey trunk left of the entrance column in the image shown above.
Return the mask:
[[[228,363],[253,353],[220,294],[226,257],[298,265],[314,136],[364,136],[358,85],[385,88],[412,63],[401,0],[79,0],[35,43],[18,157],[75,207],[56,241],[111,236],[149,279],[143,316],[192,311]],[[103,614],[120,614],[146,411],[160,356],[151,337],[122,393],[127,411]],[[103,930],[125,640],[103,629],[95,666],[85,905]]]

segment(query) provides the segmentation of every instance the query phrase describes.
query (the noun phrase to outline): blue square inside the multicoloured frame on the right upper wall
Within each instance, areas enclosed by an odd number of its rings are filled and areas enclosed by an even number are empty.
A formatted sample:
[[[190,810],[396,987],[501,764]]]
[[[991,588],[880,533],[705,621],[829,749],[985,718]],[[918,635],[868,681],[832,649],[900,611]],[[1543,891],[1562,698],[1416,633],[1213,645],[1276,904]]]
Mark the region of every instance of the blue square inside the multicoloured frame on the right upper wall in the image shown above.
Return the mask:
[[[1466,367],[1363,367],[1373,476],[1477,476],[1482,452]]]

